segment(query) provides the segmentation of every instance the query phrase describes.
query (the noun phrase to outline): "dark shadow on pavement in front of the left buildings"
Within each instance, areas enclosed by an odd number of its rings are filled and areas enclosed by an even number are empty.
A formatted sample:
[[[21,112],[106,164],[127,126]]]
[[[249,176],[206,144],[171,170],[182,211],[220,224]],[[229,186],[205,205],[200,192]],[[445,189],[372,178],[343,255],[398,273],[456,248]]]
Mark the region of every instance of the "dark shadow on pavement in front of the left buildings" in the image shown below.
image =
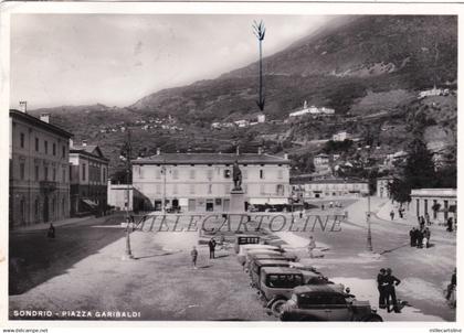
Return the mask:
[[[122,215],[110,215],[99,225],[118,225]],[[56,227],[50,239],[45,230],[27,234],[10,233],[9,294],[21,294],[56,276],[77,261],[125,236],[119,228],[93,228],[91,224]]]

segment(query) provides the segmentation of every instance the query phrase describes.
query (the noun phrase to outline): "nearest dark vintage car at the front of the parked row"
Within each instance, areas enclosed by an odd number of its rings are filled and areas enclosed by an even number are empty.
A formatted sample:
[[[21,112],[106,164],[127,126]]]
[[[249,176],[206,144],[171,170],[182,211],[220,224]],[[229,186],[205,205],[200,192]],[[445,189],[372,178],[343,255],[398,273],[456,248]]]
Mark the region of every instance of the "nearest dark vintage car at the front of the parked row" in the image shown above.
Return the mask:
[[[368,301],[357,301],[342,284],[296,287],[281,310],[282,321],[383,321]]]

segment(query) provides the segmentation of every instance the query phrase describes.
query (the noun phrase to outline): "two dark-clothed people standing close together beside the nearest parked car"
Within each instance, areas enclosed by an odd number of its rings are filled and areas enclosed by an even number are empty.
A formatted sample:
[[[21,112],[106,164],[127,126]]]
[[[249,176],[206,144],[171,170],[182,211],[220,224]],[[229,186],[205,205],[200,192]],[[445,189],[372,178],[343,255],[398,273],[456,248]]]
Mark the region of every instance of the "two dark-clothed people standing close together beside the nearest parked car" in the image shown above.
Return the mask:
[[[401,280],[392,275],[391,268],[381,268],[377,276],[377,288],[379,290],[379,308],[387,309],[388,312],[400,313],[397,293],[394,288],[401,283]]]

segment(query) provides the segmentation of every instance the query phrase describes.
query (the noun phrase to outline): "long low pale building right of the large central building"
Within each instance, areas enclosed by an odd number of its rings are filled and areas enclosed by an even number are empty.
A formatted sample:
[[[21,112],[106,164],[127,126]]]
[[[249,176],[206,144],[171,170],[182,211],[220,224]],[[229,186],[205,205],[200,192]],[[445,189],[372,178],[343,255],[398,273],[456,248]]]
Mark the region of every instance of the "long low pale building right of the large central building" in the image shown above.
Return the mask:
[[[354,179],[305,180],[292,179],[292,190],[304,200],[360,197],[369,194],[367,181]]]

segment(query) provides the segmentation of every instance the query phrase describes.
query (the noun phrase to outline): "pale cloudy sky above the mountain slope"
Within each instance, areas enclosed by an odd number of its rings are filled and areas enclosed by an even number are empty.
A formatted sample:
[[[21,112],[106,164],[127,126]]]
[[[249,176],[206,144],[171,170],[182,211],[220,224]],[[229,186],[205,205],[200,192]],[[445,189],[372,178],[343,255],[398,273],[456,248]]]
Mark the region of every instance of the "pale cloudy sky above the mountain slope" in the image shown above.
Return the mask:
[[[14,14],[10,106],[129,106],[164,88],[257,61],[324,25],[328,17],[219,14]]]

